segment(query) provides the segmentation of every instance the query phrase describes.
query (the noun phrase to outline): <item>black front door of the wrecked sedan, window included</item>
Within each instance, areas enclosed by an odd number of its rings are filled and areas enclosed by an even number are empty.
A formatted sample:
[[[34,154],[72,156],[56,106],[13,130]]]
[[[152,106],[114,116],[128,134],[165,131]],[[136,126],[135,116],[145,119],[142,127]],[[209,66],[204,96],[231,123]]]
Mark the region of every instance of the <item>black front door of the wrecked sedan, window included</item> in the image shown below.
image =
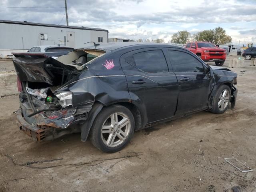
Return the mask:
[[[181,49],[168,49],[173,72],[178,80],[176,114],[186,114],[208,108],[212,76],[206,75],[206,66],[194,54]]]

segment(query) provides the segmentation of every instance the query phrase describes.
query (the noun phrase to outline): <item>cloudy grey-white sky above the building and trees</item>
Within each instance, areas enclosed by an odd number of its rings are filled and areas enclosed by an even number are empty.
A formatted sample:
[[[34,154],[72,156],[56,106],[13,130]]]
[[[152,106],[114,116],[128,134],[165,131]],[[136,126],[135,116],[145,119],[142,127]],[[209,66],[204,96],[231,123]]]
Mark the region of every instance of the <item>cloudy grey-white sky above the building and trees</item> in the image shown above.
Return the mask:
[[[171,39],[222,27],[234,44],[256,44],[256,0],[67,0],[70,26],[109,30],[109,38]],[[64,0],[1,0],[0,6],[64,7]],[[64,8],[0,8],[0,19],[66,25]],[[63,18],[63,19],[62,19]]]

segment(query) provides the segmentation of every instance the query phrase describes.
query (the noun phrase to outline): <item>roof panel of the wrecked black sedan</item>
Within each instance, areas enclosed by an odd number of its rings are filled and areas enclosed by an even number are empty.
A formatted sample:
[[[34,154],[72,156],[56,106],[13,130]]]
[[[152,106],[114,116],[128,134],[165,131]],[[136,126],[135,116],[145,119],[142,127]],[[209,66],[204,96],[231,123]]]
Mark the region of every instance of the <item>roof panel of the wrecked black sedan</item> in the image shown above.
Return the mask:
[[[151,47],[159,47],[159,46],[168,46],[168,47],[173,47],[177,48],[178,46],[170,45],[170,44],[164,44],[164,43],[148,43],[148,42],[111,42],[111,43],[101,43],[100,45],[94,46],[92,43],[91,45],[85,46],[83,48],[79,49],[99,49],[99,50],[109,50],[109,51],[114,51],[120,48],[124,47],[131,47],[131,46],[145,46],[149,45]],[[180,48],[180,47],[178,47]]]

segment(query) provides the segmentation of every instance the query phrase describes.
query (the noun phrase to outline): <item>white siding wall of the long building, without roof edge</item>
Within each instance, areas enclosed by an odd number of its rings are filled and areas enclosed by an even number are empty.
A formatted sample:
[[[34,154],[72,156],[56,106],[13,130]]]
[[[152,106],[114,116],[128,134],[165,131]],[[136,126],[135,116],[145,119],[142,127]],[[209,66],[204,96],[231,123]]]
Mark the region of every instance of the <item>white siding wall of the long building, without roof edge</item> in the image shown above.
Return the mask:
[[[106,31],[0,23],[0,49],[23,49],[22,37],[24,49],[30,49],[36,45],[54,45],[54,42],[60,44],[60,41],[64,42],[64,36],[68,46],[67,32],[75,32],[74,48],[83,47],[84,42],[98,42],[98,37],[103,37],[103,42],[108,41]],[[41,33],[48,34],[48,40],[40,40]]]

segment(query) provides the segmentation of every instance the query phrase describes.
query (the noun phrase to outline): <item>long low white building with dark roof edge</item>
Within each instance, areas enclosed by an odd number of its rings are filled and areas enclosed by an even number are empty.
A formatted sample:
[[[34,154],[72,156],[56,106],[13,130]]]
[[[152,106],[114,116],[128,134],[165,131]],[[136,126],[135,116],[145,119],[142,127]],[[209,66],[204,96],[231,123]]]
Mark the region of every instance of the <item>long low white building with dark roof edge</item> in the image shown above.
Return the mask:
[[[7,58],[11,52],[26,52],[36,45],[80,48],[90,41],[108,42],[108,30],[0,20],[0,58]]]

